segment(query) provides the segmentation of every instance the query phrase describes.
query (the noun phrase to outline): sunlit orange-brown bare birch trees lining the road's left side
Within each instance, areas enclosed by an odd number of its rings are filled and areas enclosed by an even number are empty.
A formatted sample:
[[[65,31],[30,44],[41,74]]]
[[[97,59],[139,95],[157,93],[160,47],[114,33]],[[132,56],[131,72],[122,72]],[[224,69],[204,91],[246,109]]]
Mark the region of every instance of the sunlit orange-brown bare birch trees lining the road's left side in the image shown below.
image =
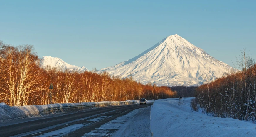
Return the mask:
[[[32,45],[14,47],[0,41],[0,47],[0,102],[10,106],[50,104],[51,82],[52,103],[178,97],[168,87],[143,85],[132,77],[42,68]]]

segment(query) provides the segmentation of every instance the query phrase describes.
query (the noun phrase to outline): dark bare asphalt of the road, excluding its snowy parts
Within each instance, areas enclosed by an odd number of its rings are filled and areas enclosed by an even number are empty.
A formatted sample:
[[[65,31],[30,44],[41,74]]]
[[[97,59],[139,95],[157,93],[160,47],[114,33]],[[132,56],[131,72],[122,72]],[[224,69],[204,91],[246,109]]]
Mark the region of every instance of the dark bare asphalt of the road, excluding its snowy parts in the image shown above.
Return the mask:
[[[0,123],[0,136],[38,136],[44,133],[65,129],[65,127],[72,125],[83,125],[81,128],[63,134],[62,136],[77,137],[83,136],[85,133],[89,133],[96,128],[99,128],[102,124],[105,124],[117,117],[121,117],[129,112],[142,107],[148,107],[152,103],[147,105],[123,105],[123,106],[110,106],[97,109],[88,109],[82,112],[56,115],[54,117],[45,118],[31,118],[26,120],[17,120]],[[100,120],[93,120],[93,119]],[[115,132],[115,131],[112,131]]]

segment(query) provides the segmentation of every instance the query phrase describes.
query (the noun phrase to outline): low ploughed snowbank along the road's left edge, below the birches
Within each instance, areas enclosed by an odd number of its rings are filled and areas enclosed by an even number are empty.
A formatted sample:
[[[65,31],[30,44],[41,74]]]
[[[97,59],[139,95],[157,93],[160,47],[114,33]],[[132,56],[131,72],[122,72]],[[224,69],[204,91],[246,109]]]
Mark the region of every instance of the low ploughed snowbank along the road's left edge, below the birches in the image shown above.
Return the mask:
[[[129,101],[102,101],[102,102],[85,102],[85,103],[66,103],[66,104],[48,104],[48,105],[28,105],[28,106],[13,106],[10,107],[5,103],[1,103],[0,105],[0,122],[6,121],[9,119],[21,119],[26,117],[33,117],[42,115],[41,112],[48,108],[56,108],[56,107],[72,107],[72,106],[80,106],[80,105],[99,105],[106,106],[106,103],[117,103],[114,105],[125,105],[133,102],[135,104],[139,104],[138,100],[129,100]],[[122,103],[122,104],[120,104]]]

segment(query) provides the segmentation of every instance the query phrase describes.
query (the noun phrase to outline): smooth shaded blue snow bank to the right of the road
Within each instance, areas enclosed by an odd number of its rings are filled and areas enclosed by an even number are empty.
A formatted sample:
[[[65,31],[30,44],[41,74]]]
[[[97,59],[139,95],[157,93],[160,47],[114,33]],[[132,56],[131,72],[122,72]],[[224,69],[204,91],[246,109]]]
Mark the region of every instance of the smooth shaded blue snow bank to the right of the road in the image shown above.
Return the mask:
[[[167,99],[166,99],[167,100]],[[237,119],[210,117],[191,112],[191,98],[156,100],[151,106],[150,128],[160,136],[255,136],[256,125]],[[181,101],[181,102],[180,102]],[[178,105],[180,102],[180,105]]]

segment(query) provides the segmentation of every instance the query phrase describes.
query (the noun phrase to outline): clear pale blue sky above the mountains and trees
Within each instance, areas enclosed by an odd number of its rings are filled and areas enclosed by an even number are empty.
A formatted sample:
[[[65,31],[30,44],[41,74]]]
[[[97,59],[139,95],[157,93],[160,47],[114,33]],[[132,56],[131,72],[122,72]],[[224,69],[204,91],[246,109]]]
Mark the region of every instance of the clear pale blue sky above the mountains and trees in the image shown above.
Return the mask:
[[[233,66],[243,46],[256,58],[255,1],[0,0],[0,39],[33,44],[88,69],[137,56],[178,34]]]

